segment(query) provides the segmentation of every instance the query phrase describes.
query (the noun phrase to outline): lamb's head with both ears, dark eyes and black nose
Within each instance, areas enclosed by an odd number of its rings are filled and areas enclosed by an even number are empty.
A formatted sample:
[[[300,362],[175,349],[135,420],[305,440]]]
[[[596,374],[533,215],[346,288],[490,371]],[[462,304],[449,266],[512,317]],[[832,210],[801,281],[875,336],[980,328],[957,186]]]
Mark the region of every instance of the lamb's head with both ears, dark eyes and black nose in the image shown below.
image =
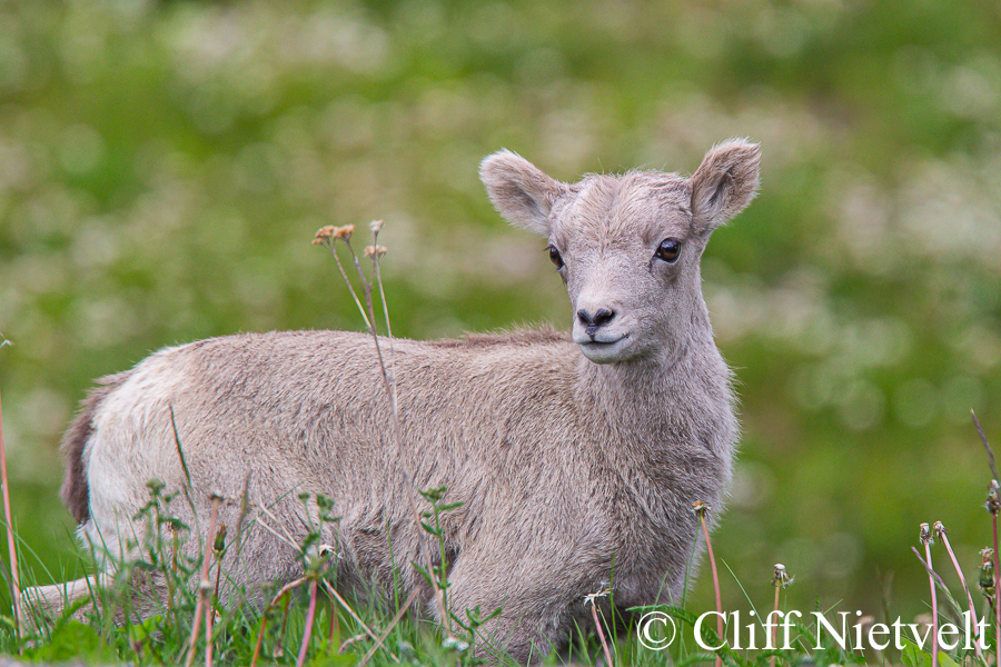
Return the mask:
[[[757,145],[732,139],[687,178],[633,171],[568,185],[502,150],[480,177],[505,218],[546,237],[573,303],[574,341],[607,364],[710,335],[698,262],[712,231],[754,198],[760,157]]]

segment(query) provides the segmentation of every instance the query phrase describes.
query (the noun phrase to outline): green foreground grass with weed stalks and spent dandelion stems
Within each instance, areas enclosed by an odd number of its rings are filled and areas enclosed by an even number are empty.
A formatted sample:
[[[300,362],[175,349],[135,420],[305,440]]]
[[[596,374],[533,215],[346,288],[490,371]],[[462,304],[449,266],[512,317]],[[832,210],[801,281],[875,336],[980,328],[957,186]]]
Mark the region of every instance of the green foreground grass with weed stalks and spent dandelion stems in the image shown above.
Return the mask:
[[[379,351],[378,359],[384,381],[384,389],[389,398],[393,415],[390,431],[395,446],[403,455],[403,437],[399,430],[396,410],[396,387],[393,369],[393,344],[389,330],[389,316],[381,292],[379,259],[386,249],[378,245],[381,222],[370,226],[373,245],[365,248],[364,256],[371,261],[370,270],[363,270],[358,255],[350,243],[354,227],[325,227],[317,232],[315,243],[330,250],[341,278],[347,283],[358,310],[371,334],[374,345]],[[337,252],[336,243],[343,241],[350,258],[350,266],[359,289],[356,290],[349,279]],[[376,311],[374,293],[378,293],[383,302],[388,348],[376,331]],[[620,631],[615,623],[604,618],[597,599],[614,595],[613,590],[597,591],[584,600],[594,621],[592,629],[577,628],[569,645],[557,655],[545,658],[552,664],[558,659],[572,659],[577,664],[604,665],[693,665],[714,663],[716,667],[724,664],[733,667],[775,667],[800,664],[846,665],[864,663],[896,663],[908,667],[954,667],[955,665],[990,665],[990,657],[997,651],[1001,656],[1001,624],[997,623],[995,611],[1001,608],[999,596],[1001,586],[998,577],[1001,567],[998,564],[997,520],[1001,511],[999,500],[999,480],[994,469],[993,451],[988,444],[980,422],[973,416],[978,432],[988,454],[992,479],[989,487],[987,509],[991,515],[994,548],[984,549],[981,563],[980,587],[984,598],[984,609],[978,615],[962,567],[949,544],[944,525],[936,521],[933,528],[929,524],[920,527],[920,542],[924,548],[922,556],[915,555],[929,575],[930,583],[930,623],[914,624],[910,636],[902,640],[898,653],[876,650],[870,641],[863,648],[860,641],[848,645],[841,641],[832,629],[838,613],[831,609],[814,609],[813,620],[796,619],[782,626],[773,619],[792,618],[792,610],[782,608],[782,593],[793,584],[783,565],[773,566],[772,583],[775,587],[774,604],[767,618],[757,615],[753,600],[746,598],[751,615],[741,617],[740,613],[724,610],[721,595],[721,583],[717,574],[716,556],[713,551],[705,515],[710,508],[696,502],[693,508],[700,518],[702,536],[705,540],[710,560],[710,571],[715,593],[715,611],[700,614],[681,606],[661,605],[634,609],[631,617],[640,618],[638,626],[628,623],[626,631]],[[0,458],[4,455],[2,439],[2,406],[0,406]],[[184,465],[184,450],[178,440],[178,456]],[[19,563],[22,551],[17,549],[18,538],[11,528],[9,498],[7,497],[7,467],[0,460],[4,490],[4,511],[10,550],[10,567],[6,576],[8,586],[17,591],[24,585],[32,585],[38,577],[28,568],[26,581],[21,581]],[[403,470],[407,482],[413,486],[408,470]],[[112,568],[113,575],[101,585],[90,587],[85,599],[69,606],[60,614],[47,615],[36,606],[20,608],[20,598],[11,597],[9,616],[0,616],[0,651],[17,654],[29,661],[58,663],[68,659],[83,659],[95,664],[129,661],[137,665],[179,665],[191,667],[197,663],[212,665],[250,665],[261,664],[295,665],[476,665],[485,661],[474,651],[474,647],[483,638],[479,628],[493,615],[500,610],[455,609],[449,606],[448,574],[446,571],[446,545],[442,529],[442,518],[457,509],[457,504],[446,504],[445,488],[416,489],[413,497],[422,497],[427,509],[412,506],[414,520],[420,526],[422,539],[436,542],[440,555],[438,565],[430,557],[425,546],[422,552],[427,556],[423,564],[415,564],[419,573],[434,591],[435,604],[446,623],[434,625],[422,620],[414,614],[417,593],[405,600],[395,597],[392,600],[369,596],[367,603],[347,599],[335,588],[338,561],[336,550],[321,541],[323,527],[328,522],[337,522],[333,516],[333,504],[323,496],[301,494],[299,500],[307,507],[310,502],[318,508],[317,524],[311,525],[307,537],[297,545],[301,559],[303,576],[277,586],[266,586],[264,599],[267,604],[248,604],[258,591],[241,586],[222,586],[220,583],[234,580],[231,571],[224,571],[222,559],[230,551],[237,554],[230,566],[239,567],[239,549],[247,529],[245,518],[250,514],[246,494],[241,498],[240,520],[235,530],[227,530],[218,522],[218,509],[224,501],[218,495],[210,497],[211,515],[205,524],[202,534],[199,526],[192,529],[185,525],[171,510],[175,502],[192,504],[190,479],[180,491],[165,494],[162,482],[150,480],[149,501],[137,519],[147,526],[141,538],[138,538],[138,557],[131,560],[118,560]],[[194,509],[194,505],[192,509]],[[267,508],[258,508],[267,515]],[[311,516],[307,511],[307,516]],[[181,548],[187,540],[197,540],[195,556],[185,556]],[[962,587],[957,601],[952,593],[932,567],[932,545],[935,540],[945,547]],[[141,542],[141,544],[140,544]],[[392,548],[392,545],[390,545]],[[92,551],[96,550],[92,548]],[[694,556],[694,549],[693,549]],[[81,570],[93,567],[81,561]],[[394,579],[396,575],[394,574]],[[740,581],[736,586],[743,590]],[[157,593],[153,593],[157,591]],[[220,594],[221,591],[221,594]],[[942,594],[939,598],[939,593]],[[940,605],[941,599],[941,605]],[[964,608],[965,607],[965,608]],[[666,650],[653,650],[645,643],[651,639],[650,626],[643,619],[656,614],[658,623],[673,627],[676,639]],[[789,614],[789,616],[786,616]],[[958,623],[969,614],[974,621],[984,619],[984,624],[994,619],[994,636],[990,633],[979,634],[975,646],[949,647],[926,640],[934,637],[943,624]],[[819,616],[817,616],[819,615]],[[670,621],[667,620],[670,619]],[[712,624],[710,620],[715,620]],[[884,619],[890,624],[890,618]],[[711,626],[715,626],[715,630]],[[862,619],[858,627],[861,638],[863,633],[878,624],[874,619]],[[865,629],[868,628],[868,629]],[[656,629],[654,630],[656,634]],[[905,634],[906,635],[906,634]],[[849,633],[845,633],[849,636]],[[924,639],[923,639],[924,638]],[[981,646],[980,643],[983,643]],[[511,661],[499,655],[500,663]]]

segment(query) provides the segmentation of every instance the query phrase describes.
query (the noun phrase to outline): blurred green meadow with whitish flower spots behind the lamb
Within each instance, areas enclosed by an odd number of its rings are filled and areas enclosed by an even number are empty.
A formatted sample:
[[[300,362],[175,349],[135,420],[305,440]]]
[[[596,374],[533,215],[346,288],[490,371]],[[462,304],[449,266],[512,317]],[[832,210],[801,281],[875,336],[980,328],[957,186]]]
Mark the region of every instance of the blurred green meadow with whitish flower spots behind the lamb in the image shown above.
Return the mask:
[[[483,156],[691,172],[732,136],[764,167],[704,260],[744,425],[716,554],[757,605],[781,561],[791,606],[910,618],[910,547],[941,519],[975,581],[970,408],[1001,445],[994,0],[3,2],[0,389],[24,544],[53,576],[81,567],[56,450],[92,378],[208,336],[360,327],[318,227],[386,220],[399,335],[567,329]],[[746,609],[725,569],[723,588]],[[711,607],[707,571],[694,595]]]

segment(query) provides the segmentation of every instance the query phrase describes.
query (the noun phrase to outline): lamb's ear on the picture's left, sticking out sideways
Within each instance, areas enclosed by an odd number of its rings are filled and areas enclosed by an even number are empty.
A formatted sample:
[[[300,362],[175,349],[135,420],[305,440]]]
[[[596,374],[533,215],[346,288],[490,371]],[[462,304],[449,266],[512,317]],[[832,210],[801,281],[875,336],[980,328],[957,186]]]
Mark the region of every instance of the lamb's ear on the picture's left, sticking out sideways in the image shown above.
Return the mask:
[[[528,160],[509,150],[487,156],[479,166],[494,208],[508,221],[548,236],[548,217],[566,186],[549,178]]]

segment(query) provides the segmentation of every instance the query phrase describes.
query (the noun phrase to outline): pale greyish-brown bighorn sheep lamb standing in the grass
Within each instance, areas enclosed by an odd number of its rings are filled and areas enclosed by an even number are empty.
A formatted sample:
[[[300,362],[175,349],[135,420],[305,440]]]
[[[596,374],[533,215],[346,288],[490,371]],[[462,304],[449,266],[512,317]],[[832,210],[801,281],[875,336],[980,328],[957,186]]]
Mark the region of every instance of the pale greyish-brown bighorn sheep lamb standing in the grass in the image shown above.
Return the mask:
[[[494,206],[547,239],[573,340],[395,340],[412,485],[397,474],[369,336],[244,334],[160,350],[101,380],[67,432],[62,497],[81,540],[106,550],[106,571],[135,556],[147,482],[186,484],[176,425],[197,511],[179,501],[171,510],[192,527],[197,514],[204,530],[214,491],[226,498],[220,521],[235,526],[248,474],[251,505],[267,508],[267,519],[245,522],[238,566],[224,563],[236,584],[301,574],[300,554],[272,531],[305,536],[298,495],[321,494],[340,517],[323,535],[336,545],[338,585],[390,599],[394,586],[399,599],[417,590],[423,613],[440,620],[413,566],[425,555],[409,497],[447,487],[446,500],[462,502],[443,518],[449,606],[500,608],[485,637],[519,661],[565,640],[587,618],[584,596],[609,585],[622,608],[677,599],[693,502],[720,508],[737,436],[700,258],[754,198],[759,161],[756,145],[735,139],[691,177],[634,171],[568,185],[509,151],[487,157],[480,176]],[[437,561],[438,545],[430,550]],[[88,585],[26,599],[61,607]]]

